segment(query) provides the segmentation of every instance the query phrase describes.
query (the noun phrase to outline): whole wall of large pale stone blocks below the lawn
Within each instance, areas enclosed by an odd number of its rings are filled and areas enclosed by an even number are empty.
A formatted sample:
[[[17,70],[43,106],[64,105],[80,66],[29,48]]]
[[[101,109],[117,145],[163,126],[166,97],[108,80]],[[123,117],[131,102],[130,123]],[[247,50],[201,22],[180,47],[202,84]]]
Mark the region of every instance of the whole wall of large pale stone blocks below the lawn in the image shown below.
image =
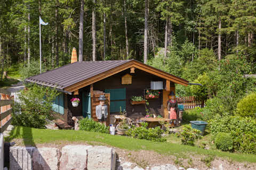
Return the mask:
[[[115,150],[104,146],[68,145],[62,149],[10,148],[10,170],[114,170],[115,163]]]

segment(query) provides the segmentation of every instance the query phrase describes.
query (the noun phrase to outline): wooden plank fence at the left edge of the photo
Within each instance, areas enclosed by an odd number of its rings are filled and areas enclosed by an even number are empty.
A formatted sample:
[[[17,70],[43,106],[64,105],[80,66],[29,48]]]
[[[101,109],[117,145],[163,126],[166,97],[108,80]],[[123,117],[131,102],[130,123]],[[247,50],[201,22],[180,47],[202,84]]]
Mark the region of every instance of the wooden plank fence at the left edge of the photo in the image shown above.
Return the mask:
[[[3,133],[12,122],[11,104],[13,101],[10,97],[11,93],[5,89],[0,89],[0,95],[0,133]]]

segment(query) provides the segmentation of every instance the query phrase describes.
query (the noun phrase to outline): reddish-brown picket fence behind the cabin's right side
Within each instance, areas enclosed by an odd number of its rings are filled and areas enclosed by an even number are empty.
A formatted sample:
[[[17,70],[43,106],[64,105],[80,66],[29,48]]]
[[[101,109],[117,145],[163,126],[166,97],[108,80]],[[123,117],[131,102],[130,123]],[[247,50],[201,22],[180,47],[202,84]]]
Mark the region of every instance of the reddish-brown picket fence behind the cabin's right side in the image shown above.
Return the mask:
[[[185,110],[205,106],[205,101],[199,100],[196,96],[178,97],[177,101],[178,103],[182,103],[184,105]]]

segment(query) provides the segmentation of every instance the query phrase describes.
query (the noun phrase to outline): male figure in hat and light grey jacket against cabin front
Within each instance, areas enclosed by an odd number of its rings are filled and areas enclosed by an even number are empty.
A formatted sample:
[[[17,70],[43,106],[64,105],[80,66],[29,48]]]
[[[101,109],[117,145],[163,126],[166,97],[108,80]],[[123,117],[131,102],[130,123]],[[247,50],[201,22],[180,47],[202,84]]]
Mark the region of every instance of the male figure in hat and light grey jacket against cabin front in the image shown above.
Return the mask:
[[[108,106],[105,105],[106,97],[104,95],[100,95],[99,101],[100,104],[96,106],[96,116],[99,122],[105,122],[108,117]]]

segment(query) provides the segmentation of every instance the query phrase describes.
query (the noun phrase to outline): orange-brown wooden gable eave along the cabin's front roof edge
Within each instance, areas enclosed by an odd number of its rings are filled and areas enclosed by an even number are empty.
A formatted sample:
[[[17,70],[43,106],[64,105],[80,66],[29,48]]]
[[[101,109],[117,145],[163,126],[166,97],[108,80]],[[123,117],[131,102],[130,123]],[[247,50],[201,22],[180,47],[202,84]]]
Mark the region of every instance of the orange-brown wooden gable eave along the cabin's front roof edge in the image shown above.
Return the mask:
[[[64,88],[64,90],[69,91],[69,92],[73,92],[75,90],[78,90],[78,89],[81,89],[85,86],[88,86],[88,85],[90,85],[94,82],[97,82],[97,81],[100,81],[100,80],[105,79],[107,77],[110,77],[111,75],[114,75],[116,73],[119,73],[121,71],[129,69],[130,67],[135,67],[137,69],[148,72],[150,74],[154,74],[157,77],[161,77],[163,79],[170,80],[174,83],[178,83],[178,84],[181,84],[183,86],[188,86],[188,81],[186,81],[186,80],[175,77],[174,75],[171,75],[169,73],[165,73],[163,71],[155,69],[154,67],[148,66],[146,64],[143,64],[143,63],[140,63],[140,62],[137,62],[137,61],[131,61],[131,62],[122,64],[122,65],[119,65],[119,66],[117,66],[114,69],[111,69],[109,71],[106,71],[106,72],[100,73],[98,75],[95,75],[94,77],[91,77],[89,79],[77,82],[77,83],[75,83],[71,86],[68,86],[68,87]]]

